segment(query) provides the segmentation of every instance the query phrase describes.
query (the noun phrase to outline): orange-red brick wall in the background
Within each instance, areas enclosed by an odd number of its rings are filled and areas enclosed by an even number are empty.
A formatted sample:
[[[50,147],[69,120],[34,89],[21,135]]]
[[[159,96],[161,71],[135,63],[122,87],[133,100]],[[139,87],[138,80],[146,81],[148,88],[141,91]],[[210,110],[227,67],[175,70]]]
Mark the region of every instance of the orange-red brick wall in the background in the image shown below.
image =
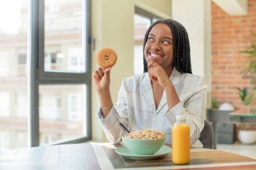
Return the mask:
[[[242,75],[248,55],[239,52],[250,46],[250,31],[256,32],[256,0],[248,0],[244,16],[230,16],[212,2],[212,96],[218,103],[245,108],[236,88],[252,87],[250,76]]]

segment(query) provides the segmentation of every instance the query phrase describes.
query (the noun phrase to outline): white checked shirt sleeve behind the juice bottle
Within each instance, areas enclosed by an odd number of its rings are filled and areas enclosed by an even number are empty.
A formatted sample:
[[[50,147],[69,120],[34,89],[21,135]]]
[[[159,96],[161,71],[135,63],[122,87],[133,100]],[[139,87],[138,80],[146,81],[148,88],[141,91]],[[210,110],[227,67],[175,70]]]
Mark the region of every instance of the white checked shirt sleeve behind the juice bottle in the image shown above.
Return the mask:
[[[183,101],[177,103],[177,105],[164,115],[170,122],[170,126],[173,126],[176,122],[175,116],[187,116],[187,123],[190,127],[191,145],[199,139],[204,126],[207,85],[203,77],[199,77],[197,85],[193,89],[194,91],[191,95],[185,97]]]

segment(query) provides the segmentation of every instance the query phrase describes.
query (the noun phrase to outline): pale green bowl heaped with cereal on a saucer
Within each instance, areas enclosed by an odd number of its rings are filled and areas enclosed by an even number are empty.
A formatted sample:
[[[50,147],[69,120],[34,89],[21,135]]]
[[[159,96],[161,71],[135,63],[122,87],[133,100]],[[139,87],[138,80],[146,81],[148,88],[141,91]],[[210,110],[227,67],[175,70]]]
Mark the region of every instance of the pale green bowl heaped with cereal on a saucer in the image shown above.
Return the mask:
[[[165,138],[164,133],[150,129],[133,131],[122,137],[127,149],[137,155],[153,155],[163,146]]]

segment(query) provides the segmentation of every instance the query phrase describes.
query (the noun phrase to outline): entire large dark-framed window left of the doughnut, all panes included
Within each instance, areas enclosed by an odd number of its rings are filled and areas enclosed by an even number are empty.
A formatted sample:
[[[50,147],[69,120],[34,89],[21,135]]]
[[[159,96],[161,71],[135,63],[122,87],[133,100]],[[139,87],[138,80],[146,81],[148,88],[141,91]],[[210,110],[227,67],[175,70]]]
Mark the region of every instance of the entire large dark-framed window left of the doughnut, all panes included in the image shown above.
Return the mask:
[[[0,2],[0,153],[90,140],[89,3]]]

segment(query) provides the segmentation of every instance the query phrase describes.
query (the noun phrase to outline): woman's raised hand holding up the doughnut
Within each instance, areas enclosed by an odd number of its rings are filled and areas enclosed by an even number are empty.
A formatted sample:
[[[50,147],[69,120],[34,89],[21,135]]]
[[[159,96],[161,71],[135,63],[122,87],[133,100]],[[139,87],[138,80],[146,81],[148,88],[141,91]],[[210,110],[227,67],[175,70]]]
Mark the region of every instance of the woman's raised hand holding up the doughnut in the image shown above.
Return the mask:
[[[98,68],[98,70],[92,73],[92,81],[94,83],[94,87],[98,92],[109,90],[111,69],[112,67],[108,69]]]

